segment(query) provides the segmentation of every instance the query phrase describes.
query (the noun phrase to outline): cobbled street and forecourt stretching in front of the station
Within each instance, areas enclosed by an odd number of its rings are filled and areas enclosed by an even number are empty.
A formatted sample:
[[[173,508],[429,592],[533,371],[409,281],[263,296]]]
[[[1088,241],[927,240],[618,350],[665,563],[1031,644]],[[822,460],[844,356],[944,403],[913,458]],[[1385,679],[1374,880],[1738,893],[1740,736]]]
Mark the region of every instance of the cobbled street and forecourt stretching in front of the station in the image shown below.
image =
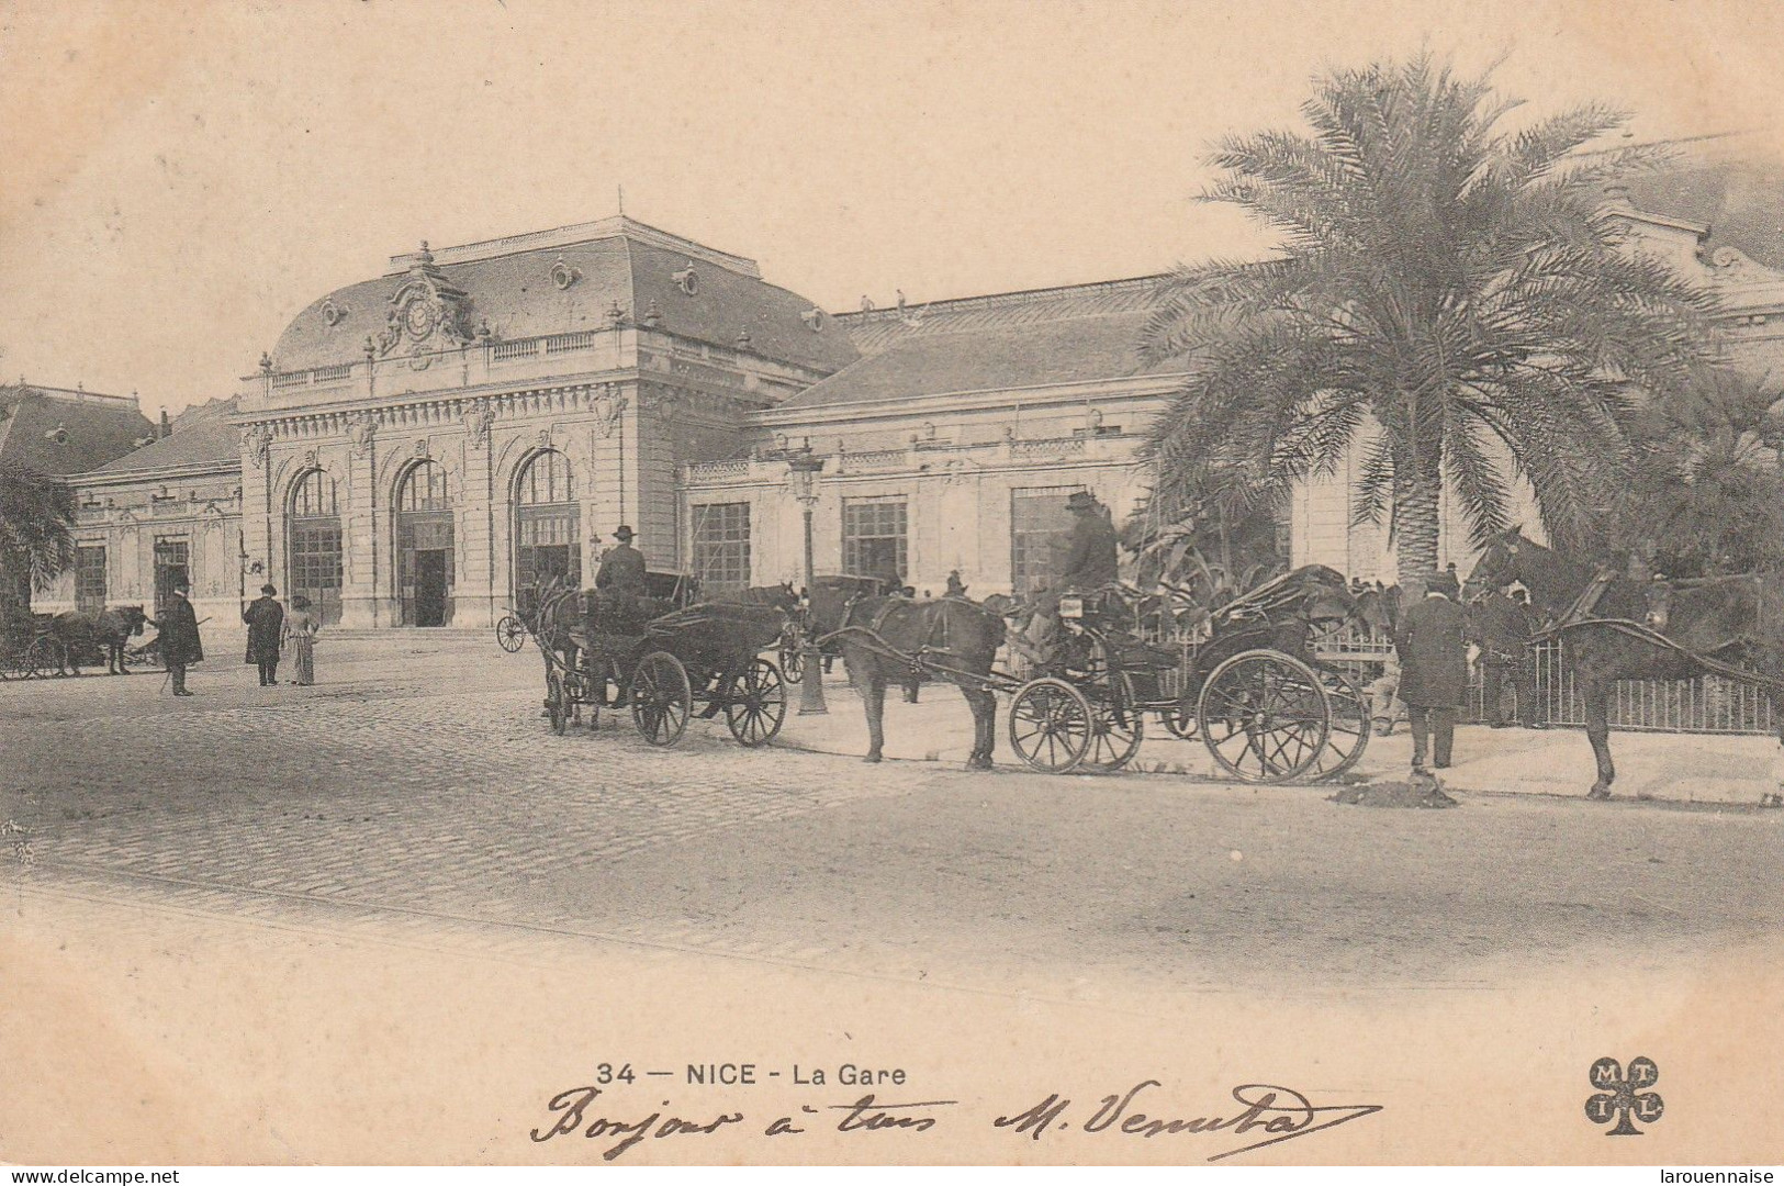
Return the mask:
[[[1381,811],[1317,788],[865,767],[742,749],[723,722],[653,749],[612,717],[551,735],[537,660],[487,642],[339,640],[319,662],[323,685],[266,690],[207,665],[187,701],[157,676],[0,687],[23,876],[514,958],[617,943],[1074,993],[1308,968],[1477,986],[1784,929],[1775,813]]]

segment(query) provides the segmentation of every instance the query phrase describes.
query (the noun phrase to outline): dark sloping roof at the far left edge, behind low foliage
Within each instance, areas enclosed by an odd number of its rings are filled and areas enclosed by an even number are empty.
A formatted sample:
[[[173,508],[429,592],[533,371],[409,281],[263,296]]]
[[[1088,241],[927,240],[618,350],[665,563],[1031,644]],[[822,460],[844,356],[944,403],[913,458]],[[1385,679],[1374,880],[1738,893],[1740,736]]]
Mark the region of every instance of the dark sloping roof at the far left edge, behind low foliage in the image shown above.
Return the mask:
[[[18,383],[0,387],[0,467],[75,474],[152,437],[134,396]]]

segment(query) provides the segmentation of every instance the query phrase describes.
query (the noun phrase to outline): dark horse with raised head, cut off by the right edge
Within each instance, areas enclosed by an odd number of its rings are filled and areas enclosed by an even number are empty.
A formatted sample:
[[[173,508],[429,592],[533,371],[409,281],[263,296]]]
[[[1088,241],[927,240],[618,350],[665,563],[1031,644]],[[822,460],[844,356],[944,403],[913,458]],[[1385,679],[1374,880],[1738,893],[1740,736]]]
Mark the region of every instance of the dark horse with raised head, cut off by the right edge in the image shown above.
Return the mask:
[[[1502,587],[1520,581],[1531,603],[1561,624],[1561,651],[1586,704],[1586,737],[1598,758],[1598,781],[1588,792],[1609,799],[1616,767],[1611,763],[1611,694],[1618,679],[1691,679],[1709,669],[1691,655],[1718,663],[1750,663],[1763,678],[1784,676],[1784,589],[1761,576],[1718,576],[1702,581],[1632,581],[1613,576],[1602,594],[1566,626],[1566,614],[1598,580],[1591,564],[1568,560],[1513,528],[1488,540],[1468,581]],[[1677,647],[1645,640],[1609,622],[1647,624]],[[1689,651],[1691,655],[1686,655]],[[1773,690],[1759,685],[1773,697]],[[1784,708],[1775,697],[1775,708]],[[1784,742],[1784,717],[1775,717]]]

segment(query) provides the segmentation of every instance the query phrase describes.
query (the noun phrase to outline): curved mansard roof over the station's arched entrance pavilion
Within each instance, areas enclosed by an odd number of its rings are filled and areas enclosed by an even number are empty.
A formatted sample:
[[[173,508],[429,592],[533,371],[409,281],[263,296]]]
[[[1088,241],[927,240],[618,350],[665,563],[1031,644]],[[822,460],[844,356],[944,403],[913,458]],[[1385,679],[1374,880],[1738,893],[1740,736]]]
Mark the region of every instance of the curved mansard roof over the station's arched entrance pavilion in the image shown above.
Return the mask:
[[[396,255],[391,269],[312,301],[278,339],[273,364],[303,371],[360,362],[366,337],[385,332],[389,301],[423,262],[466,294],[466,330],[487,323],[498,341],[630,325],[783,362],[835,371],[855,360],[849,335],[796,292],[762,280],[755,260],[715,251],[619,216],[507,239]],[[692,278],[689,278],[692,273]]]

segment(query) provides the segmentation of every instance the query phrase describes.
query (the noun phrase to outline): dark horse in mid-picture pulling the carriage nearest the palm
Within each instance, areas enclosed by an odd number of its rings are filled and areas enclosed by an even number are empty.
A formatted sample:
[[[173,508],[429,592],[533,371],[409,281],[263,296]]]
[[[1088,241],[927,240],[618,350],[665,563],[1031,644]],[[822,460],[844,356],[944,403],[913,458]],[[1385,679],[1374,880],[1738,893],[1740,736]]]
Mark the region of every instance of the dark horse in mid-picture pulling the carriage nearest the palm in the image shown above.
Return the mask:
[[[814,597],[814,630],[842,653],[849,681],[867,710],[867,756],[880,762],[885,745],[887,683],[946,679],[972,708],[972,753],[967,767],[992,769],[997,740],[997,697],[990,674],[1004,622],[965,597],[910,601],[906,597],[851,597],[840,605]],[[910,656],[929,660],[913,669]]]

